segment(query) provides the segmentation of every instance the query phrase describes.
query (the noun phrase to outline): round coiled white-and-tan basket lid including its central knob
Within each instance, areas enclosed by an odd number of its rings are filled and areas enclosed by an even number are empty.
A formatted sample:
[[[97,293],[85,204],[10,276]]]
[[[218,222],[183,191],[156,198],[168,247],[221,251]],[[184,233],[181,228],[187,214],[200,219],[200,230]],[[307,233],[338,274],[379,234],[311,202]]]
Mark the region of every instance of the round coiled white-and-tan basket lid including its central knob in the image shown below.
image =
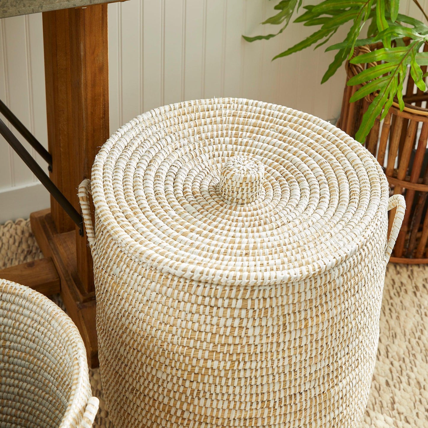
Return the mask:
[[[92,197],[133,260],[196,281],[269,285],[353,256],[386,219],[388,184],[330,123],[216,98],[119,128],[95,158]]]

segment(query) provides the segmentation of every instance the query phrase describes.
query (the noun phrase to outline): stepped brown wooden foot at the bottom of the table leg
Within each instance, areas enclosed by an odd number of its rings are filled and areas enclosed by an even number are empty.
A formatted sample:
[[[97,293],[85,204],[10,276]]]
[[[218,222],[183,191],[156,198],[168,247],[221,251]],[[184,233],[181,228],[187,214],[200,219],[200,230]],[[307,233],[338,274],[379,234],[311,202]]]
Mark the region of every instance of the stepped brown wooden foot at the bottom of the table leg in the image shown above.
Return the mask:
[[[51,257],[61,282],[60,293],[68,315],[80,331],[86,347],[89,367],[98,367],[98,343],[95,330],[95,291],[82,294],[77,270],[76,233],[58,233],[51,210],[30,216],[31,228],[45,257]]]

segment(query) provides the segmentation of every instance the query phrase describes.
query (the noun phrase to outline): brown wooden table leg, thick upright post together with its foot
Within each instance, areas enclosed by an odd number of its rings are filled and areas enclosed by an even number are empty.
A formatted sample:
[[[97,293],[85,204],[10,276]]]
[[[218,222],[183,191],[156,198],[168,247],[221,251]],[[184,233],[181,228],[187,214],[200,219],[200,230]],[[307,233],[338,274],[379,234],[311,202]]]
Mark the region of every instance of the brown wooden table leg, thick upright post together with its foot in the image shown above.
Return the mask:
[[[51,179],[80,212],[77,187],[90,178],[98,148],[109,137],[107,4],[43,12]],[[45,256],[61,279],[65,306],[80,330],[88,363],[98,365],[92,258],[86,237],[51,201],[31,215]]]

